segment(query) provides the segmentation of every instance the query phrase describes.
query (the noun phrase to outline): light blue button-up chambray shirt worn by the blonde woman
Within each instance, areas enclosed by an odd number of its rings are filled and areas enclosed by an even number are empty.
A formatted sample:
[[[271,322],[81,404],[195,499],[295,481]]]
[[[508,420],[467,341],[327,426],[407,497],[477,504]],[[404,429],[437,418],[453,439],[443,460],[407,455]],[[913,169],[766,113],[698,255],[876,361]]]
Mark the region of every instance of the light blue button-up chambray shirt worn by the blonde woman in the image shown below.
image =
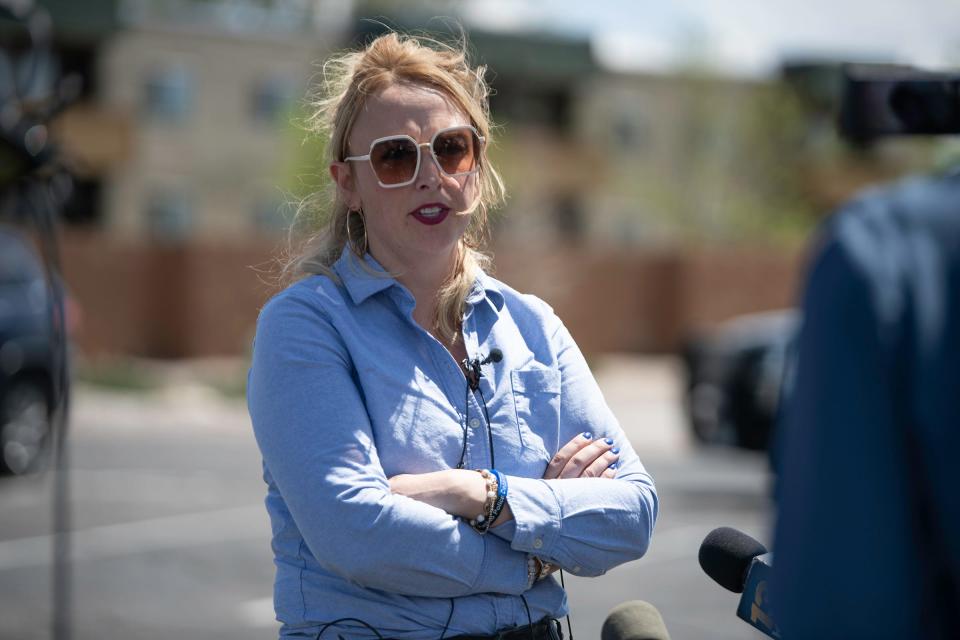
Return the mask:
[[[578,576],[640,557],[657,517],[653,480],[552,309],[480,274],[467,298],[467,353],[484,366],[497,468],[514,521],[479,535],[440,509],[390,492],[388,478],[490,466],[482,399],[450,353],[413,320],[414,299],[344,251],[325,276],[264,307],[247,398],[263,454],[285,638],[358,618],[385,638],[492,634],[566,613],[550,577],[527,588],[530,554]],[[620,447],[616,479],[542,480],[578,433]],[[521,598],[522,596],[522,598]],[[452,611],[452,613],[451,613]],[[347,638],[375,638],[342,623]],[[325,637],[335,637],[328,631]]]

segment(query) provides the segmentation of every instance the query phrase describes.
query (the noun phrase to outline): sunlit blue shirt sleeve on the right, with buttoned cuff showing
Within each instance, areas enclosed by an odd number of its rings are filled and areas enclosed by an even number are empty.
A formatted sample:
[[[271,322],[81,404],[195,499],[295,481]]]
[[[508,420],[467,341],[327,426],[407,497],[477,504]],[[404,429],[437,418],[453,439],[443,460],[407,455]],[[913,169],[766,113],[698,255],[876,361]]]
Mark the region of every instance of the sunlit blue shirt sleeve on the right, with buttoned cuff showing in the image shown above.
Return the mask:
[[[510,476],[507,500],[515,522],[491,531],[509,539],[517,551],[559,564],[574,575],[597,576],[646,552],[657,519],[657,492],[573,337],[552,318],[556,325],[551,343],[561,377],[560,446],[587,431],[612,438],[620,447],[617,477]],[[530,427],[537,429],[535,423]]]

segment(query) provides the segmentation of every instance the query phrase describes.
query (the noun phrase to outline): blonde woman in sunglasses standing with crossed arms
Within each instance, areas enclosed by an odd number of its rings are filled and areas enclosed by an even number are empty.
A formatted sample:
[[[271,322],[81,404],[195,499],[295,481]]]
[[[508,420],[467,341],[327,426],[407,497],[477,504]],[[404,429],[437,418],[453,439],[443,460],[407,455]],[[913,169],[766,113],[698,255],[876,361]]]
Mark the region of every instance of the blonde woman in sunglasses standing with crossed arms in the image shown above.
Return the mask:
[[[556,638],[550,574],[649,544],[653,482],[570,334],[482,269],[483,72],[395,34],[325,66],[332,215],[248,387],[282,637]]]

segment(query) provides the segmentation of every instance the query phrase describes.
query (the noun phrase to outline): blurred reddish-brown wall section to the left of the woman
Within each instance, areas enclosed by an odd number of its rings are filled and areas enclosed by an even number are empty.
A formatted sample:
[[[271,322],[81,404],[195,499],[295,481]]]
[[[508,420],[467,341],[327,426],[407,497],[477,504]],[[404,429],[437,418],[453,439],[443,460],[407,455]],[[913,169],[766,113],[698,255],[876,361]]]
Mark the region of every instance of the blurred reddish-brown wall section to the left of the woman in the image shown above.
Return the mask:
[[[160,358],[245,353],[272,290],[258,273],[272,249],[65,236],[63,269],[81,308],[81,350]]]

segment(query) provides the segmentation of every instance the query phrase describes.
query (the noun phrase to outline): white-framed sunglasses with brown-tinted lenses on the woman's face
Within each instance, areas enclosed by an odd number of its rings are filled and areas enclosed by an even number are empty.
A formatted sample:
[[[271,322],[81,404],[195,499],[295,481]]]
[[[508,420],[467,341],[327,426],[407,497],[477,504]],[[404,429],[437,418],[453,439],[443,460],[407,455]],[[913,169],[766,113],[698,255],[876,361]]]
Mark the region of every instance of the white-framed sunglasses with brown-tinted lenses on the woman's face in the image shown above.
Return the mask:
[[[412,184],[420,173],[420,147],[429,147],[437,168],[445,176],[467,176],[480,170],[485,139],[472,126],[447,127],[433,134],[430,142],[417,142],[408,135],[386,136],[370,143],[370,152],[344,158],[344,162],[367,160],[384,189]]]

